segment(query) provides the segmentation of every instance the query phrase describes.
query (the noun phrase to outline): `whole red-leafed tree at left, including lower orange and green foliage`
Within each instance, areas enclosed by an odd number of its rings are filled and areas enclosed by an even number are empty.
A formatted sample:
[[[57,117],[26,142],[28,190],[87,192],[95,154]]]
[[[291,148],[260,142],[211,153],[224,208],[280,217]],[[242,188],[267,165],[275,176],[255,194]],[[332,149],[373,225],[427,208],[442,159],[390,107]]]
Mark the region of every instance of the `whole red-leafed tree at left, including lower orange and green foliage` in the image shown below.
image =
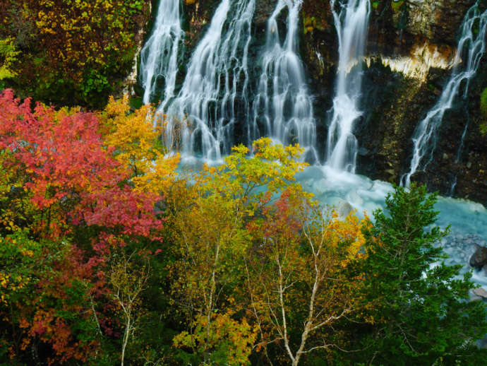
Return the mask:
[[[101,129],[95,114],[0,93],[0,317],[16,329],[0,332],[0,357],[10,343],[10,355],[44,345],[44,359],[89,362],[120,332],[110,256],[159,240],[162,196],[135,188]]]

